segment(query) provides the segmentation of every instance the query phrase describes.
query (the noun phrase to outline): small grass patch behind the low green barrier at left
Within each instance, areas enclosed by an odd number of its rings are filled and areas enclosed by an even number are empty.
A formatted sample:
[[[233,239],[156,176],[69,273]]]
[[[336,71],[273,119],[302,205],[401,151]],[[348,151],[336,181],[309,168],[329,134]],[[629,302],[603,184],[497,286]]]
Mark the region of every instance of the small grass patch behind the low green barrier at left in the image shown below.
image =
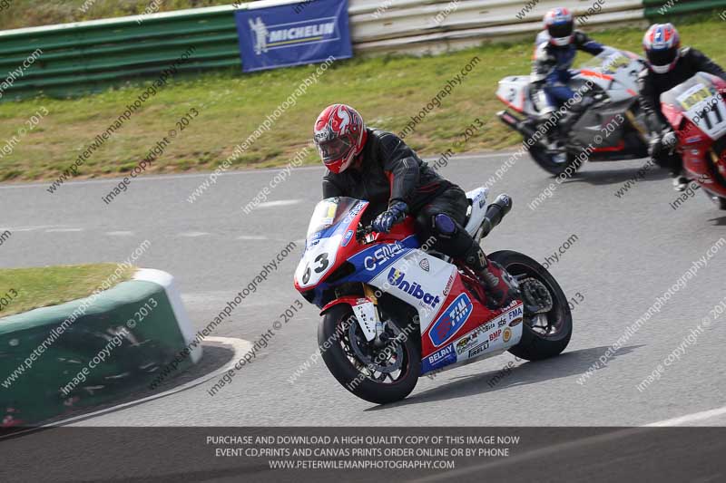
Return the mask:
[[[116,264],[95,264],[0,270],[0,304],[3,305],[0,317],[91,295],[117,267]],[[124,269],[113,285],[130,279],[135,270],[135,267]]]

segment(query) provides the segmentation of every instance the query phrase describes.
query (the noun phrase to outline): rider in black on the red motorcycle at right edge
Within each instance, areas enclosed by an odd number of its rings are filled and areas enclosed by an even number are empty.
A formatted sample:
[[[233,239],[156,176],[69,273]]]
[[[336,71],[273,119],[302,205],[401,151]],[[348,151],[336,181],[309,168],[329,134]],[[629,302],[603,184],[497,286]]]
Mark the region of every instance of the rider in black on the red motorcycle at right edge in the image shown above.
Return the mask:
[[[643,36],[643,50],[648,69],[638,77],[640,103],[652,132],[649,154],[664,168],[671,169],[673,187],[682,191],[688,179],[681,175],[683,161],[669,153],[664,145],[672,143],[674,134],[661,112],[661,94],[692,78],[696,72],[709,72],[726,80],[726,72],[705,54],[692,47],[681,47],[681,36],[672,24],[652,24]],[[666,140],[666,142],[663,142]]]

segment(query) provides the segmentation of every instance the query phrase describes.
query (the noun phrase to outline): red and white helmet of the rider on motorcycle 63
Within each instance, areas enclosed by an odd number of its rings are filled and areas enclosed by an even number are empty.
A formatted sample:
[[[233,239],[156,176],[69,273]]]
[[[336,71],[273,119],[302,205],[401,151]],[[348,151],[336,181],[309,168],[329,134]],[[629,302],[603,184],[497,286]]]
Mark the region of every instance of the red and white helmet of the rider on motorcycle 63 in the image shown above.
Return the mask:
[[[368,138],[363,118],[346,104],[332,104],[320,112],[313,132],[320,159],[334,173],[348,169]]]

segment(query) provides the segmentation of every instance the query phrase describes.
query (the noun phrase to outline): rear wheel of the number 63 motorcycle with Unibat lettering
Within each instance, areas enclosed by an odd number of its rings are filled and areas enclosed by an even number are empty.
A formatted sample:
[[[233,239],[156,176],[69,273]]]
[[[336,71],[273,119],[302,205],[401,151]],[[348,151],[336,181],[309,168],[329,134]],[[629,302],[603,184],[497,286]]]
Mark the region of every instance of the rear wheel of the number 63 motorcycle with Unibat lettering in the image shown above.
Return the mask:
[[[552,308],[546,314],[535,316],[525,311],[522,339],[509,352],[526,361],[539,361],[562,353],[572,337],[573,315],[567,297],[554,276],[536,260],[521,253],[503,250],[489,257],[517,279],[535,278],[552,296]],[[537,324],[540,322],[543,325]]]

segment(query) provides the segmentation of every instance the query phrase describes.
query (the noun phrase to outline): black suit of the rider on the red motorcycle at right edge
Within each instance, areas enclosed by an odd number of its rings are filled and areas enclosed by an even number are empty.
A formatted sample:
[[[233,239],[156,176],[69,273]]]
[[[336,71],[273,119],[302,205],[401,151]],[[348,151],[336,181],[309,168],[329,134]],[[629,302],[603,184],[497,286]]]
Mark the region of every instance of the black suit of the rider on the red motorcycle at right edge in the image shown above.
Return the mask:
[[[692,47],[681,49],[678,62],[670,72],[655,73],[650,69],[644,69],[640,73],[638,76],[640,104],[645,114],[648,129],[652,132],[653,137],[660,137],[663,130],[670,129],[668,120],[665,119],[661,111],[661,94],[670,91],[682,82],[688,81],[697,72],[712,73],[726,80],[726,72],[723,72],[723,69],[717,63],[714,63],[705,54]],[[674,174],[681,172],[682,159],[676,153],[662,155],[659,159],[654,160],[664,168],[671,169]]]

